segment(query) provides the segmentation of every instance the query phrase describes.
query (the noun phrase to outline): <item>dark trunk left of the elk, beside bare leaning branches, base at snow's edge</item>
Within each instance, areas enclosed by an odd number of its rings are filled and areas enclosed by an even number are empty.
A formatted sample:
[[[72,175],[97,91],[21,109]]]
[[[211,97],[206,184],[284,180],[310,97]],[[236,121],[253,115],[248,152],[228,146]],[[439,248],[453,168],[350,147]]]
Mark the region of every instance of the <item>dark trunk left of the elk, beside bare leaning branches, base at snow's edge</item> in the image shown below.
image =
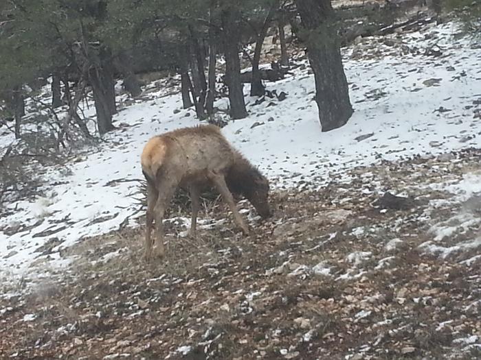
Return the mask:
[[[98,132],[103,135],[114,128],[112,115],[116,112],[115,91],[110,51],[102,47],[98,59],[91,67],[89,77],[97,112]]]

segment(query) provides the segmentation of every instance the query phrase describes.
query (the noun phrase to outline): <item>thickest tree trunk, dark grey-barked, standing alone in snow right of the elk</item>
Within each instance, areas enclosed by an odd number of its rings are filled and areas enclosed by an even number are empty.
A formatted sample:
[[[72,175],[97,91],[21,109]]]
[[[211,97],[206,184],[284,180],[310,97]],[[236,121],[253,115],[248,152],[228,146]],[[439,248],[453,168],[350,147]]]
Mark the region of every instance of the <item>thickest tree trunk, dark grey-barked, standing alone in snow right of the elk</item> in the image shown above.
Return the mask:
[[[353,107],[342,66],[331,0],[295,0],[302,23],[309,63],[315,78],[315,101],[322,131],[346,124]]]

